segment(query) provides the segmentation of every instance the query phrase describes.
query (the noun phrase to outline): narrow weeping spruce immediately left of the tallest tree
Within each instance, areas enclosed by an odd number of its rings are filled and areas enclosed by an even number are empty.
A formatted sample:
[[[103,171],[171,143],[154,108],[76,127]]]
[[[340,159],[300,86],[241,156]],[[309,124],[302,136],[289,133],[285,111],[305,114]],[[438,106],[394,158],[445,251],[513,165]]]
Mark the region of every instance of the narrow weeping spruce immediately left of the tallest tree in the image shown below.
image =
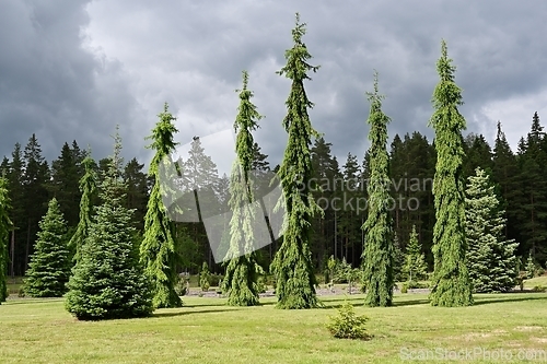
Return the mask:
[[[228,304],[232,306],[254,306],[258,304],[258,277],[264,270],[256,261],[253,251],[255,236],[253,228],[257,201],[254,196],[251,168],[254,158],[253,130],[258,128],[258,114],[251,102],[253,92],[247,90],[248,73],[243,71],[243,90],[240,91],[240,107],[235,118],[234,129],[237,132],[235,141],[236,158],[230,176],[230,247],[226,259],[230,259],[224,275],[223,291],[228,293]]]

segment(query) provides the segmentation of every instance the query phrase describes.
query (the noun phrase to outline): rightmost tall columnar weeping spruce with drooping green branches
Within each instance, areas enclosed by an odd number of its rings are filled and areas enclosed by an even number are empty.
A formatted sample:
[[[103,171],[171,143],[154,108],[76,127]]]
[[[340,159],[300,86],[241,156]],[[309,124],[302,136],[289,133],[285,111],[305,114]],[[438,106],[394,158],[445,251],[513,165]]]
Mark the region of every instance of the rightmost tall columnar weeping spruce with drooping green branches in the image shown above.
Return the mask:
[[[473,305],[472,282],[465,263],[465,157],[462,130],[466,128],[457,107],[462,91],[454,82],[455,67],[442,40],[437,63],[440,75],[433,93],[434,113],[430,125],[435,131],[437,165],[433,179],[437,222],[433,228],[434,271],[430,293],[433,306]]]

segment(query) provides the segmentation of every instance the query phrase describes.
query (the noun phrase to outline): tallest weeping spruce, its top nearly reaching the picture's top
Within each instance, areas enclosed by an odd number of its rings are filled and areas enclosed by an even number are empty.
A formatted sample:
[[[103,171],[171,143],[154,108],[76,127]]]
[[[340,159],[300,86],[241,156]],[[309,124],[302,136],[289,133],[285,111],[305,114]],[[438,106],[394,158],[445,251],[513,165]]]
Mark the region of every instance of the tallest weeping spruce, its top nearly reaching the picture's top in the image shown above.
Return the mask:
[[[307,109],[313,107],[313,103],[304,90],[304,80],[310,80],[306,72],[315,72],[318,67],[307,62],[312,56],[302,42],[304,34],[305,23],[300,23],[296,13],[296,25],[292,30],[294,45],[286,51],[287,64],[278,72],[292,80],[292,85],[286,102],[288,113],[282,124],[289,141],[278,171],[286,203],[283,242],[271,268],[277,283],[277,307],[289,309],[319,305],[310,250],[312,219],[322,212],[312,195],[315,187],[312,186],[310,145],[312,138],[319,134],[310,121]]]

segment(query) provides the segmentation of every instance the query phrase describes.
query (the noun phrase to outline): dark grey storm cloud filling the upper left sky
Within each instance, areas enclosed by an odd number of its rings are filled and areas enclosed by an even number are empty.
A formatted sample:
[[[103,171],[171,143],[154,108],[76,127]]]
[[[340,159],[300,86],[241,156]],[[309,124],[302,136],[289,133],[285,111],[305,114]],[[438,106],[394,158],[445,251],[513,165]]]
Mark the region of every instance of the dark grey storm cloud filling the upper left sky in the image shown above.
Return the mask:
[[[115,125],[138,113],[120,63],[82,48],[86,1],[3,1],[0,11],[0,156],[36,133],[48,160],[65,141],[112,151]],[[130,140],[126,145],[131,145]]]

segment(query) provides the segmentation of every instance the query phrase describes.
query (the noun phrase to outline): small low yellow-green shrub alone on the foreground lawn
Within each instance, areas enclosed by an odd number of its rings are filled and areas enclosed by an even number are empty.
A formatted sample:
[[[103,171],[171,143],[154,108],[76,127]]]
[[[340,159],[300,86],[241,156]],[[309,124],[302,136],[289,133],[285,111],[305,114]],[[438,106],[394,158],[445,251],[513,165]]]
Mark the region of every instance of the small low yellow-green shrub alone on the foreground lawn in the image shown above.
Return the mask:
[[[353,305],[346,301],[338,308],[338,315],[330,316],[330,322],[326,327],[338,339],[370,340],[372,337],[366,332],[364,327],[368,320],[369,318],[365,316],[357,316]]]

